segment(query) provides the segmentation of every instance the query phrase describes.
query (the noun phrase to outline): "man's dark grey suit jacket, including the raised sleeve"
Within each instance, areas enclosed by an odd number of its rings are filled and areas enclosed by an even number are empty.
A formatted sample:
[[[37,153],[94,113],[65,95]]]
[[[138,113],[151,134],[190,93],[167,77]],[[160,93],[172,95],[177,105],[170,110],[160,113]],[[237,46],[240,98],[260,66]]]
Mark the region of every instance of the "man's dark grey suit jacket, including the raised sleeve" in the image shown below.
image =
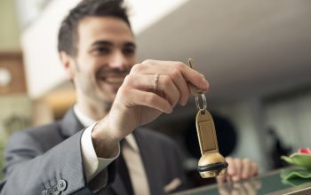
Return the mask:
[[[84,127],[70,109],[62,121],[15,133],[4,153],[5,177],[0,194],[41,194],[57,186],[60,180],[67,184],[61,194],[89,194],[80,145],[83,131]],[[140,148],[151,194],[163,194],[163,186],[174,178],[185,182],[179,150],[169,138],[148,129],[136,129],[133,135]],[[116,174],[115,163],[104,171],[108,171],[109,184],[97,194],[127,194],[120,179],[123,175]]]

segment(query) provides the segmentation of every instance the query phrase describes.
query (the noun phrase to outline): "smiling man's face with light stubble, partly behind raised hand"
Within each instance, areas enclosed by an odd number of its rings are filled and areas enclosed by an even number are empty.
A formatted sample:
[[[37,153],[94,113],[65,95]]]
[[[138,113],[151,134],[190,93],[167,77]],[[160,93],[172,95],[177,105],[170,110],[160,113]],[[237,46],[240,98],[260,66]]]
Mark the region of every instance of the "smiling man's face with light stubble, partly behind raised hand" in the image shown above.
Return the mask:
[[[93,103],[111,103],[136,63],[130,27],[112,17],[86,17],[77,27],[73,79],[78,96]]]

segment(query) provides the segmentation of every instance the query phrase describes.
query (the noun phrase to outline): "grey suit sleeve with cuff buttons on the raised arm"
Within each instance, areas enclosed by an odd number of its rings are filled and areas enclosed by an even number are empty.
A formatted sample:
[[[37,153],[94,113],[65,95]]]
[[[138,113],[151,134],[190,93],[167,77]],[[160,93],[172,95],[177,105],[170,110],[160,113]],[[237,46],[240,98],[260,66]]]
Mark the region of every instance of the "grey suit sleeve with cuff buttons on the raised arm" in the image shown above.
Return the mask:
[[[63,191],[72,194],[85,191],[85,175],[81,153],[83,131],[70,136],[47,152],[27,132],[12,136],[5,150],[6,166],[0,194],[44,194]],[[113,179],[114,170],[109,170]],[[111,166],[114,169],[113,165]],[[105,169],[107,171],[107,169]],[[108,178],[109,183],[110,178]],[[1,189],[2,188],[2,189]]]

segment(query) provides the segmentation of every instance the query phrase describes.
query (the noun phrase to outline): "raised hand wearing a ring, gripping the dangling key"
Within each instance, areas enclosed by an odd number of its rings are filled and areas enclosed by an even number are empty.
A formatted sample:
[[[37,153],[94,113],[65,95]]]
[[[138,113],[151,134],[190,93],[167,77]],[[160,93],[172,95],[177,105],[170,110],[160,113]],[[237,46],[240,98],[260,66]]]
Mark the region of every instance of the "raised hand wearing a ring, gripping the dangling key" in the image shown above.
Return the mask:
[[[159,74],[155,83],[156,74]],[[175,105],[186,105],[190,95],[187,82],[208,90],[204,76],[181,62],[146,60],[132,66],[108,115],[93,129],[97,143],[116,143],[133,129],[171,113]],[[154,89],[156,87],[156,90]]]

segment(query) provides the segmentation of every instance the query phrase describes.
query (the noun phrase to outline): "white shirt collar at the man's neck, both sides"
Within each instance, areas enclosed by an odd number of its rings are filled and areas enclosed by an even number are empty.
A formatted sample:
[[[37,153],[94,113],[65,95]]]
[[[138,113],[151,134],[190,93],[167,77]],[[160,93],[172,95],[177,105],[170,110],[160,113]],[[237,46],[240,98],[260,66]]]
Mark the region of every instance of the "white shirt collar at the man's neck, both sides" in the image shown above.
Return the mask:
[[[81,122],[84,127],[88,127],[96,122],[91,117],[83,113],[77,105],[74,105],[74,112],[76,114],[76,118]],[[139,146],[137,145],[137,142],[132,134],[125,136],[125,141],[127,144],[129,144],[132,150],[134,150],[135,152],[140,152]]]

